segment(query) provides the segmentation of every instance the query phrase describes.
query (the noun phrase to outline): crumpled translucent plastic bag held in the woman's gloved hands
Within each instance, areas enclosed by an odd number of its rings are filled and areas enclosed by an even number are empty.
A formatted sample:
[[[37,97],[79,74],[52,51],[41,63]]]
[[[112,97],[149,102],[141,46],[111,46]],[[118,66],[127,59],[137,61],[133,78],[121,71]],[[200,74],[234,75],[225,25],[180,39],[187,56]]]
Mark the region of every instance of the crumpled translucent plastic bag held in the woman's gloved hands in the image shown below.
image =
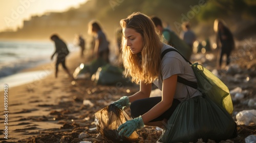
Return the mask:
[[[122,110],[112,104],[95,113],[97,131],[114,142],[132,142],[137,140],[138,134],[136,131],[129,137],[118,135],[117,128],[125,123],[125,121]]]

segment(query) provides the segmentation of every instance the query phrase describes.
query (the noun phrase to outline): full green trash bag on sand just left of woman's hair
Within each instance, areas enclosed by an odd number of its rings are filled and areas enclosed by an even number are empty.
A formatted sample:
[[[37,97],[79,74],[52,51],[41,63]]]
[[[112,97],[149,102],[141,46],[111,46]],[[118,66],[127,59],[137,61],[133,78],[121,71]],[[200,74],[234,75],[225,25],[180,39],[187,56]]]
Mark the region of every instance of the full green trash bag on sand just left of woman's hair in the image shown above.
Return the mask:
[[[124,77],[123,69],[111,64],[99,67],[92,81],[101,85],[131,84],[131,80]]]

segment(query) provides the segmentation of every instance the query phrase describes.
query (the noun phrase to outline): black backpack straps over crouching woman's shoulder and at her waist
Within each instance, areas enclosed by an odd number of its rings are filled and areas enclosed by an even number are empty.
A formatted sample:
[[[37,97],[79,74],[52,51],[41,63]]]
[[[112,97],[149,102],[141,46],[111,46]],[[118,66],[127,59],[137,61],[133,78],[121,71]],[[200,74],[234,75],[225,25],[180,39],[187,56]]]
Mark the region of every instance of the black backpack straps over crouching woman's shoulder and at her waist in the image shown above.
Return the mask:
[[[172,48],[166,49],[166,50],[164,50],[163,53],[161,54],[161,60],[162,60],[163,56],[164,56],[166,53],[171,52],[171,51],[175,51],[175,52],[179,53],[176,49],[172,49]],[[180,54],[180,53],[179,53],[179,54]],[[180,54],[180,55],[181,55],[181,54]],[[181,55],[181,56],[182,56],[182,55]],[[182,56],[182,57],[183,57],[183,56]],[[184,58],[190,65],[192,64],[192,63],[191,63],[190,61],[188,61],[185,57],[183,57],[183,58]],[[182,78],[182,77],[179,77],[179,76],[178,76],[177,82],[183,83],[183,84],[185,84],[185,85],[187,85],[187,86],[190,86],[190,87],[193,87],[193,88],[197,89],[197,82],[188,81],[188,80],[186,80],[186,79],[184,79],[184,78]]]

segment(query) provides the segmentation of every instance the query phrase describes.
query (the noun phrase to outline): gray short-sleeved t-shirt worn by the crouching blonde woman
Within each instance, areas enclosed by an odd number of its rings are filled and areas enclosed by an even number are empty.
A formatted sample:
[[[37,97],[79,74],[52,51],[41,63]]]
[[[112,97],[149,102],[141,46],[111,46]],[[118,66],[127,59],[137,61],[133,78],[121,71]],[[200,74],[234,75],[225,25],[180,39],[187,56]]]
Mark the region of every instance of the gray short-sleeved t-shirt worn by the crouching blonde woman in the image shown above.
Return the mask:
[[[161,53],[168,48],[174,49],[174,47],[170,45],[163,44]],[[160,73],[158,78],[153,82],[160,90],[162,90],[163,80],[176,74],[188,81],[197,82],[193,69],[177,52],[168,52],[164,55],[160,64]],[[180,102],[189,99],[189,97],[193,98],[200,95],[201,92],[197,89],[177,82],[174,98],[178,99]]]

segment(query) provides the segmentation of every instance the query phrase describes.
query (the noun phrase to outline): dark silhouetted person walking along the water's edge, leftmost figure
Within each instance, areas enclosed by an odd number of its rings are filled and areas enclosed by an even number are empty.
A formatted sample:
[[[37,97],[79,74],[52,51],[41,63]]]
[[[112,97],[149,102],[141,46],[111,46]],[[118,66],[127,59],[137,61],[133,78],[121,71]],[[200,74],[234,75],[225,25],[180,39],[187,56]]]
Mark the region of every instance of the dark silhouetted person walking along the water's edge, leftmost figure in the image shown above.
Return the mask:
[[[66,66],[66,56],[69,54],[69,50],[67,47],[67,44],[63,42],[58,35],[53,34],[50,39],[54,41],[55,43],[55,52],[51,56],[51,60],[53,60],[53,57],[55,54],[57,54],[57,60],[55,64],[55,78],[58,77],[58,65],[61,63],[62,67],[66,71],[66,73],[69,75],[69,77],[73,78],[73,76],[70,74],[69,69]]]

